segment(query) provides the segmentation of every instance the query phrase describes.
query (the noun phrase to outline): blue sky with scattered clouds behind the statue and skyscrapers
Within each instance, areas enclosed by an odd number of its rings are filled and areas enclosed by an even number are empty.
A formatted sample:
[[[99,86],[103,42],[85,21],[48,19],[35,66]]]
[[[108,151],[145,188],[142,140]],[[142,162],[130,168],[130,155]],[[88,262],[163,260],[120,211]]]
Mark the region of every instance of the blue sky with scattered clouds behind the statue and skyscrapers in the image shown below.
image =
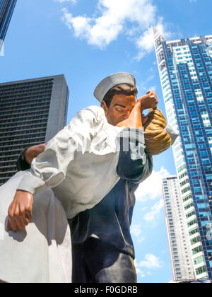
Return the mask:
[[[151,25],[167,40],[211,35],[211,0],[18,0],[0,57],[0,82],[64,74],[68,121],[98,105],[93,90],[105,76],[136,76],[165,112]],[[154,157],[153,175],[140,185],[131,232],[139,282],[172,279],[161,179],[175,175],[172,149]]]

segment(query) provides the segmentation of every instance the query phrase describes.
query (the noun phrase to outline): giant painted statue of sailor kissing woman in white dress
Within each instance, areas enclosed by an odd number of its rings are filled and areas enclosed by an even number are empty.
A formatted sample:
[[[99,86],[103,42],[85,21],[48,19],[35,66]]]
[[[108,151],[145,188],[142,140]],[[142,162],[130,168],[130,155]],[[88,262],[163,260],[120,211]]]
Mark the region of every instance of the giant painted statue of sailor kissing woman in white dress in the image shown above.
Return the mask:
[[[136,94],[131,74],[108,76],[95,90],[101,107],[20,154],[24,171],[0,187],[2,281],[136,282],[134,192],[177,136],[156,94]]]

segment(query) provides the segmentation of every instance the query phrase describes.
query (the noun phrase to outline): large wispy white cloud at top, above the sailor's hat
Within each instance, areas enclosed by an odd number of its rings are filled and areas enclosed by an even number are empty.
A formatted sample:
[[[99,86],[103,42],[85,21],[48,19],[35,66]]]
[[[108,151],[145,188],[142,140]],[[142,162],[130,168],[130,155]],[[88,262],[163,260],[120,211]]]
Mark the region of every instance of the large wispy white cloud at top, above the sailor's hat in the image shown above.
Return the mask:
[[[122,33],[136,42],[139,49],[136,59],[139,60],[153,50],[151,25],[168,35],[163,18],[157,16],[152,0],[98,0],[97,7],[98,16],[91,17],[73,16],[67,8],[63,8],[64,23],[76,37],[86,40],[89,45],[104,50]]]

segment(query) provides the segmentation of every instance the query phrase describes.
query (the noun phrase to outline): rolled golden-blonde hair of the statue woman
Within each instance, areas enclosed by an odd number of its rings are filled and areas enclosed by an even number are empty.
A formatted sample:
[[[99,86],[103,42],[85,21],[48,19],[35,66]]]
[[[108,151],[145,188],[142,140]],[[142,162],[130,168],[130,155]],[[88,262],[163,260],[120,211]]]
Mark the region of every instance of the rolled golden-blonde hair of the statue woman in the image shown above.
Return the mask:
[[[144,127],[146,151],[150,155],[159,155],[172,145],[170,135],[165,131],[167,122],[161,110],[151,109],[148,113],[148,120]]]

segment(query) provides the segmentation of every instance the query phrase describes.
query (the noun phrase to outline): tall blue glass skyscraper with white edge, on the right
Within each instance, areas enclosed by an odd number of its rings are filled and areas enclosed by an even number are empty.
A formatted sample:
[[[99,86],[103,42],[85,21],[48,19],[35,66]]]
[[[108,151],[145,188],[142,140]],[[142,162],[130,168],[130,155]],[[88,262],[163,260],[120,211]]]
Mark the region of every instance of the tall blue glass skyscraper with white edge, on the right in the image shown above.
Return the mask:
[[[212,35],[167,42],[153,28],[196,279],[212,278]]]

